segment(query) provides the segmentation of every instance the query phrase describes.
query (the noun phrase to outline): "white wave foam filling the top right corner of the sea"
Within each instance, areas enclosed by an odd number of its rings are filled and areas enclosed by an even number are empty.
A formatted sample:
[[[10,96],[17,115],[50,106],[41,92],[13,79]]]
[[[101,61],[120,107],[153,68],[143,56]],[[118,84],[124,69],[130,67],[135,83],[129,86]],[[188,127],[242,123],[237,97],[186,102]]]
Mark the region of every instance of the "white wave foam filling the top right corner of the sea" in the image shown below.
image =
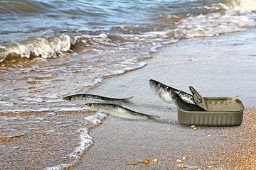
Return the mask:
[[[247,27],[256,26],[256,0],[228,1],[209,6],[197,6],[208,10],[218,10],[213,13],[188,17],[176,23],[177,28],[171,29],[167,35],[176,40],[202,36],[216,36],[224,33],[245,31]],[[221,10],[223,9],[223,10]],[[151,49],[156,52],[156,48]]]

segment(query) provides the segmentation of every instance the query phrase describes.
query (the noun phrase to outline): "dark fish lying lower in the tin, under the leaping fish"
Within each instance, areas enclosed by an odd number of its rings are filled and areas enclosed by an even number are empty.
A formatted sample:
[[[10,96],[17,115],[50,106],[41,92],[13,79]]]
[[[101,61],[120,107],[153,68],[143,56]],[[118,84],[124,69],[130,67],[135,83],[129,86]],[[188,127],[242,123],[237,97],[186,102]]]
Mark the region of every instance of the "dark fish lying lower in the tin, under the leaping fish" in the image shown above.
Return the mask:
[[[183,109],[184,111],[206,111],[200,106],[192,103],[187,103],[186,101],[183,101],[181,96],[179,96],[174,90],[171,89],[171,98],[173,99],[175,105],[178,108]]]

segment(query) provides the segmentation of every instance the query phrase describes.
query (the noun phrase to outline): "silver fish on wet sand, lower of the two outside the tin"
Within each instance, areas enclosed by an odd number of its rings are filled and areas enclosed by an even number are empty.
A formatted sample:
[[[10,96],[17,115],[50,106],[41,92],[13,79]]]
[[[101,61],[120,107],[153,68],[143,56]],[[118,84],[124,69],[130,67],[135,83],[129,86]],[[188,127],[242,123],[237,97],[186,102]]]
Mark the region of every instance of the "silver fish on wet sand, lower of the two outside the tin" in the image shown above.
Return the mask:
[[[89,109],[90,111],[107,112],[110,115],[114,115],[119,118],[126,118],[126,119],[157,120],[157,118],[160,118],[157,115],[147,115],[144,113],[139,113],[136,111],[132,111],[128,108],[124,108],[123,106],[116,105],[116,104],[86,103],[85,108]]]

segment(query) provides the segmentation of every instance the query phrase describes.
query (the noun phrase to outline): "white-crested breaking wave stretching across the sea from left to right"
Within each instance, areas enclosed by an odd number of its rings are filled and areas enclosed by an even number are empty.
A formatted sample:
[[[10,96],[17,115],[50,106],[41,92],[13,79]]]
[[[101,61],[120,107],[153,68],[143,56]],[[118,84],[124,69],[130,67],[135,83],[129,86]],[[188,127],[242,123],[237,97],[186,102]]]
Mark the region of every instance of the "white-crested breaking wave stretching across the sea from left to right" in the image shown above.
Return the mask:
[[[40,4],[42,5],[46,6]],[[198,15],[196,11],[201,13]],[[148,23],[146,28],[141,25],[114,26],[101,33],[98,31],[98,34],[93,30],[62,30],[61,35],[41,36],[0,45],[0,62],[17,57],[51,58],[81,48],[102,50],[104,47],[127,44],[149,45],[151,52],[156,52],[159,43],[165,45],[183,38],[244,31],[247,27],[256,26],[255,11],[255,0],[228,1],[193,6],[186,16],[176,16],[174,13],[153,16],[151,19],[159,25],[156,29]],[[169,26],[166,26],[168,22]]]

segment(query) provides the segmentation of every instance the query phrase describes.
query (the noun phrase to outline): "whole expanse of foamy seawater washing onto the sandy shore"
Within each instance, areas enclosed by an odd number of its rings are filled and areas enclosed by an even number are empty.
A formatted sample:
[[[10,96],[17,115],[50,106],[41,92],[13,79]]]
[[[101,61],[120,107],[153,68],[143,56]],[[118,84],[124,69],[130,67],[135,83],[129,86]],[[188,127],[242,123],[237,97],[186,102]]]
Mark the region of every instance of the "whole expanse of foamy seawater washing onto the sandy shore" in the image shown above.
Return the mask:
[[[77,164],[93,145],[90,129],[107,115],[67,103],[64,96],[86,94],[109,77],[146,66],[163,45],[247,31],[256,26],[255,4],[1,1],[0,167]]]

